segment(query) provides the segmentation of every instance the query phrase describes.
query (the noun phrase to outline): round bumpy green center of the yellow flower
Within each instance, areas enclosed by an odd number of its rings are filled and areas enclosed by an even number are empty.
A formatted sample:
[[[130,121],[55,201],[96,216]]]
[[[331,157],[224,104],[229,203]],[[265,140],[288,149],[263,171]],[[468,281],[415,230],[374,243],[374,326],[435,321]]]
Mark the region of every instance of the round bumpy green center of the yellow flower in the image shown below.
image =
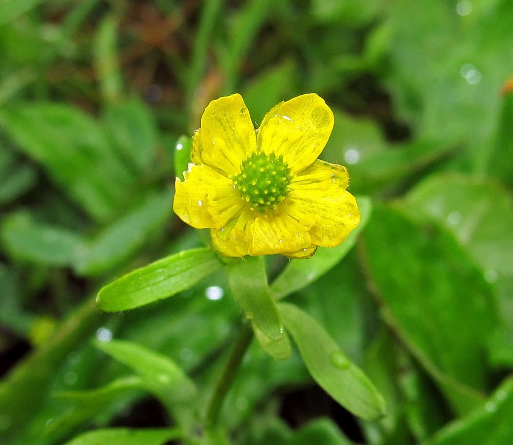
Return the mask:
[[[254,153],[242,162],[239,175],[232,177],[233,187],[249,202],[251,210],[274,210],[290,193],[290,168],[274,153]]]

